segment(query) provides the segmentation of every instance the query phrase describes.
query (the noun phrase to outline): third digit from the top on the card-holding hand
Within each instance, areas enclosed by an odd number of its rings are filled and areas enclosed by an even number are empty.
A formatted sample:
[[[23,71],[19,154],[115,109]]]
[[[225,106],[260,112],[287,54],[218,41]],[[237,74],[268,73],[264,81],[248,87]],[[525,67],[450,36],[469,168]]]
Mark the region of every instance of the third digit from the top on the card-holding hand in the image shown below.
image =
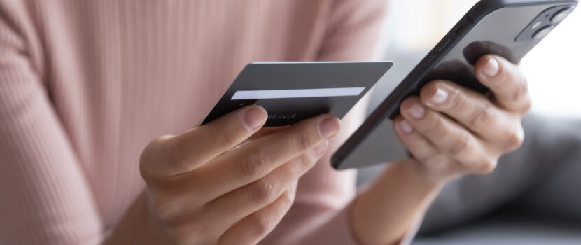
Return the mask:
[[[328,148],[328,141],[274,169],[264,178],[233,190],[205,205],[204,220],[225,230],[249,214],[278,198],[289,186],[315,165]]]

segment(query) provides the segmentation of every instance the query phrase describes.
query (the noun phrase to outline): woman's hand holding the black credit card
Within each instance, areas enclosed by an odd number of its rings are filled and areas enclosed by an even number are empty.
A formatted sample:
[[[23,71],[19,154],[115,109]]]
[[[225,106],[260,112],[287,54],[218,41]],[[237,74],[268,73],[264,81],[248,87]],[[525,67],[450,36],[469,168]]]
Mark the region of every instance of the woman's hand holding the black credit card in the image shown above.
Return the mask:
[[[321,115],[248,140],[266,118],[260,106],[247,106],[152,141],[140,162],[144,232],[178,244],[255,244],[265,237],[293,203],[297,179],[340,127],[337,118]]]

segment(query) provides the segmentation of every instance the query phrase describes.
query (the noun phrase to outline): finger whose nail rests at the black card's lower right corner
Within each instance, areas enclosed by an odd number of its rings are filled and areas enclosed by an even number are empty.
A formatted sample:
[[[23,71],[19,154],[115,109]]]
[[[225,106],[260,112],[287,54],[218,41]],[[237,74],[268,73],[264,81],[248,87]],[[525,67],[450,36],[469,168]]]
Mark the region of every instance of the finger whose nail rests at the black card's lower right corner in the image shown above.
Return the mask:
[[[225,153],[200,167],[195,179],[222,195],[261,179],[339,132],[339,119],[321,115]]]

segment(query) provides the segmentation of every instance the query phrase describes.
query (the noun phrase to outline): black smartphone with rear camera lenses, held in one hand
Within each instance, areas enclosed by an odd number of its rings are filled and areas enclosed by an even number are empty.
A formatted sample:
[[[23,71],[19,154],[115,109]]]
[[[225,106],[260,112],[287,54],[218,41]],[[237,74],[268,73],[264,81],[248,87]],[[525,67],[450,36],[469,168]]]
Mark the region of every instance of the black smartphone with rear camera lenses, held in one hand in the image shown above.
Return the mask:
[[[577,6],[578,0],[482,0],[435,45],[426,57],[395,87],[355,133],[332,155],[335,169],[365,167],[345,162],[361,142],[386,119],[399,114],[400,103],[419,94],[431,80],[451,80],[486,93],[478,82],[474,64],[482,55],[505,57],[515,64]]]

